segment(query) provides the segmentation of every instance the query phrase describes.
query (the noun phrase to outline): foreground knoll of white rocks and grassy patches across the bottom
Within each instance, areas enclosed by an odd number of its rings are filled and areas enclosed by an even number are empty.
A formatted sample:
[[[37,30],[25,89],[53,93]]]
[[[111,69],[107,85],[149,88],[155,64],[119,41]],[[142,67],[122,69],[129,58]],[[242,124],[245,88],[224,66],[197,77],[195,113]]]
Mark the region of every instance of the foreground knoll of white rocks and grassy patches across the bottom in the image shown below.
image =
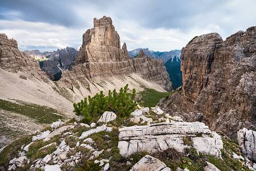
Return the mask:
[[[97,123],[81,121],[57,121],[8,145],[1,170],[256,170],[256,132],[245,128],[239,146],[202,122],[139,105],[127,119],[104,112]]]

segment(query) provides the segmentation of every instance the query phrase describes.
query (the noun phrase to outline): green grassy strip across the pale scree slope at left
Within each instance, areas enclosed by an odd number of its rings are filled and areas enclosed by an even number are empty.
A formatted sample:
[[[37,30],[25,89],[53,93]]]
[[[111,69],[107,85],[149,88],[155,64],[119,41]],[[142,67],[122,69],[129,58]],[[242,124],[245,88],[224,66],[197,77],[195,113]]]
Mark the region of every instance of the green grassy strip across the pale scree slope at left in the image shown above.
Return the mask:
[[[39,123],[52,123],[54,121],[58,121],[58,119],[63,119],[62,115],[53,108],[36,104],[28,104],[22,101],[17,102],[19,104],[0,99],[0,109],[26,115],[35,119]]]

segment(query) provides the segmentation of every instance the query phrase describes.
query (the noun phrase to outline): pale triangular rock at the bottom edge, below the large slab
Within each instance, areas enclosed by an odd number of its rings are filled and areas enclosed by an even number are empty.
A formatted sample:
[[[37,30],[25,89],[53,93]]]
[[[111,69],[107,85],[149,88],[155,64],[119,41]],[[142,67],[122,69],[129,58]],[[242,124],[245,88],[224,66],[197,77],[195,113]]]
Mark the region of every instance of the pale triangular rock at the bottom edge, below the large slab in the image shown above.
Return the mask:
[[[136,163],[130,171],[171,171],[162,161],[153,158],[150,155],[145,155]]]

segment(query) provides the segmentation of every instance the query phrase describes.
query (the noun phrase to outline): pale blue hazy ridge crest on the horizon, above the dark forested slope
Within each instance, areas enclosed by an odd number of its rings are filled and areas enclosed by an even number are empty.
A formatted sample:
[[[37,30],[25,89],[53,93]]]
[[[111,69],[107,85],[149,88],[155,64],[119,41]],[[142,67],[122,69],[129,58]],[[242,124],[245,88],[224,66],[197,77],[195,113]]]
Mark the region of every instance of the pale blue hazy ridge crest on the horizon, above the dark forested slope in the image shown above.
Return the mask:
[[[181,50],[171,50],[169,52],[159,52],[159,51],[153,51],[153,50],[149,50],[148,48],[138,48],[138,49],[134,49],[129,51],[128,53],[130,54],[131,58],[135,57],[139,54],[139,51],[143,50],[144,54],[148,57],[154,57],[156,59],[162,59],[165,62],[167,62],[169,59],[180,59],[180,55],[181,55]]]

